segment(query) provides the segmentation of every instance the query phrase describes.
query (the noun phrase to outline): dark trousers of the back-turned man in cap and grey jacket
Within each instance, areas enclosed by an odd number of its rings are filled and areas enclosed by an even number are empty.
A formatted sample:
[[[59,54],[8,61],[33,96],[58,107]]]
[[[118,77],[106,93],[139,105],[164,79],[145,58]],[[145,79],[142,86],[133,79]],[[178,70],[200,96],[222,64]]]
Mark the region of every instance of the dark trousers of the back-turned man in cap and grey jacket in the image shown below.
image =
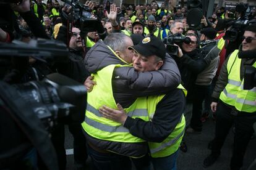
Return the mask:
[[[193,110],[190,126],[196,131],[202,131],[202,103],[209,91],[210,86],[199,86],[194,87],[194,98],[193,98]]]

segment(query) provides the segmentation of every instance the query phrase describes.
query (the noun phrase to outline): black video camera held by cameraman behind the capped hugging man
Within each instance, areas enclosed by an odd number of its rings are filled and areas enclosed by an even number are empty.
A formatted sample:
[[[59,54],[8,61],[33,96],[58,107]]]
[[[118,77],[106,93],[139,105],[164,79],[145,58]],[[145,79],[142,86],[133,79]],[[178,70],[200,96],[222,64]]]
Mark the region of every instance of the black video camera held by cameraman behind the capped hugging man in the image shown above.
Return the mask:
[[[177,44],[178,46],[181,46],[183,42],[189,44],[191,42],[191,39],[189,37],[182,36],[181,34],[174,34],[167,36],[162,41],[164,42],[164,44],[166,44],[166,50],[168,54],[177,55],[178,47],[174,44]]]

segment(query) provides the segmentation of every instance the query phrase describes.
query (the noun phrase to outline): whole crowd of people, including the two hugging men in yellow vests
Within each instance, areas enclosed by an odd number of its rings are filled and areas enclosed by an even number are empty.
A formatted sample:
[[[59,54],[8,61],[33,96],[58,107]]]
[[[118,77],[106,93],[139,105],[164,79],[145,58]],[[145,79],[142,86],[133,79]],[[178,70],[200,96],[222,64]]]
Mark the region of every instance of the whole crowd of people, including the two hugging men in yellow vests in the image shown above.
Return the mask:
[[[179,150],[187,152],[183,137],[201,133],[210,115],[215,137],[209,139],[211,153],[203,166],[215,163],[234,126],[230,168],[241,169],[256,123],[255,87],[244,89],[245,65],[256,68],[255,7],[246,15],[244,4],[216,8],[191,26],[189,7],[87,1],[84,12],[93,22],[80,27],[72,6],[56,0],[0,6],[5,9],[1,15],[10,14],[2,20],[12,20],[1,25],[1,42],[56,39],[69,48],[64,63],[48,65],[28,57],[22,74],[12,75],[15,81],[2,79],[25,83],[58,72],[87,88],[85,118],[80,123],[62,120],[51,132],[59,169],[66,169],[65,124],[74,137],[77,169],[86,169],[88,156],[93,169],[131,169],[132,164],[136,169],[177,169]],[[227,31],[234,29],[234,21],[243,23],[231,39]],[[170,54],[174,49],[176,54]],[[36,163],[32,159],[36,151],[29,151],[21,158],[45,169],[40,158]],[[17,164],[8,166],[15,169]]]

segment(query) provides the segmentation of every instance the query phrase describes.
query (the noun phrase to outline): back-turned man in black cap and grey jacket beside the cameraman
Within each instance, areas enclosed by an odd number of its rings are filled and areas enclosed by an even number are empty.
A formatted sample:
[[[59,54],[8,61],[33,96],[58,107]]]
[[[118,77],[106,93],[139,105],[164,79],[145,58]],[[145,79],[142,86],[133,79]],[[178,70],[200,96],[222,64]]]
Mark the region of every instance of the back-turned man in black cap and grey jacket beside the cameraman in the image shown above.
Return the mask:
[[[200,120],[202,115],[202,102],[206,98],[206,95],[210,93],[211,81],[216,75],[218,64],[220,62],[219,52],[220,49],[217,47],[216,30],[213,28],[204,28],[201,30],[200,45],[201,51],[204,56],[204,60],[207,60],[208,66],[197,75],[195,80],[194,93],[197,97],[193,100],[192,118],[190,127],[187,132],[202,131],[202,121]],[[208,99],[210,100],[210,99]],[[210,111],[210,102],[205,105]],[[208,115],[208,113],[204,113]]]

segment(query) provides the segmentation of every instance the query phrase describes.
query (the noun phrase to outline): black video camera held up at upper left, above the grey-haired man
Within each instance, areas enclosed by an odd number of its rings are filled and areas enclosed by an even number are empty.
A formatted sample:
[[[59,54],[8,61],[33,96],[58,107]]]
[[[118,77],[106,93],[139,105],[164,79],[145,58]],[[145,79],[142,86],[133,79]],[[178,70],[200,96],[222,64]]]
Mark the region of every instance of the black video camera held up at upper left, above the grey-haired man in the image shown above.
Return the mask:
[[[81,31],[90,32],[97,30],[96,23],[99,22],[98,19],[90,18],[92,15],[92,10],[79,2],[79,0],[61,0],[65,2],[66,6],[72,7],[72,15],[74,19],[75,26],[80,28]],[[63,12],[64,13],[64,12]],[[68,18],[66,14],[64,17]]]

